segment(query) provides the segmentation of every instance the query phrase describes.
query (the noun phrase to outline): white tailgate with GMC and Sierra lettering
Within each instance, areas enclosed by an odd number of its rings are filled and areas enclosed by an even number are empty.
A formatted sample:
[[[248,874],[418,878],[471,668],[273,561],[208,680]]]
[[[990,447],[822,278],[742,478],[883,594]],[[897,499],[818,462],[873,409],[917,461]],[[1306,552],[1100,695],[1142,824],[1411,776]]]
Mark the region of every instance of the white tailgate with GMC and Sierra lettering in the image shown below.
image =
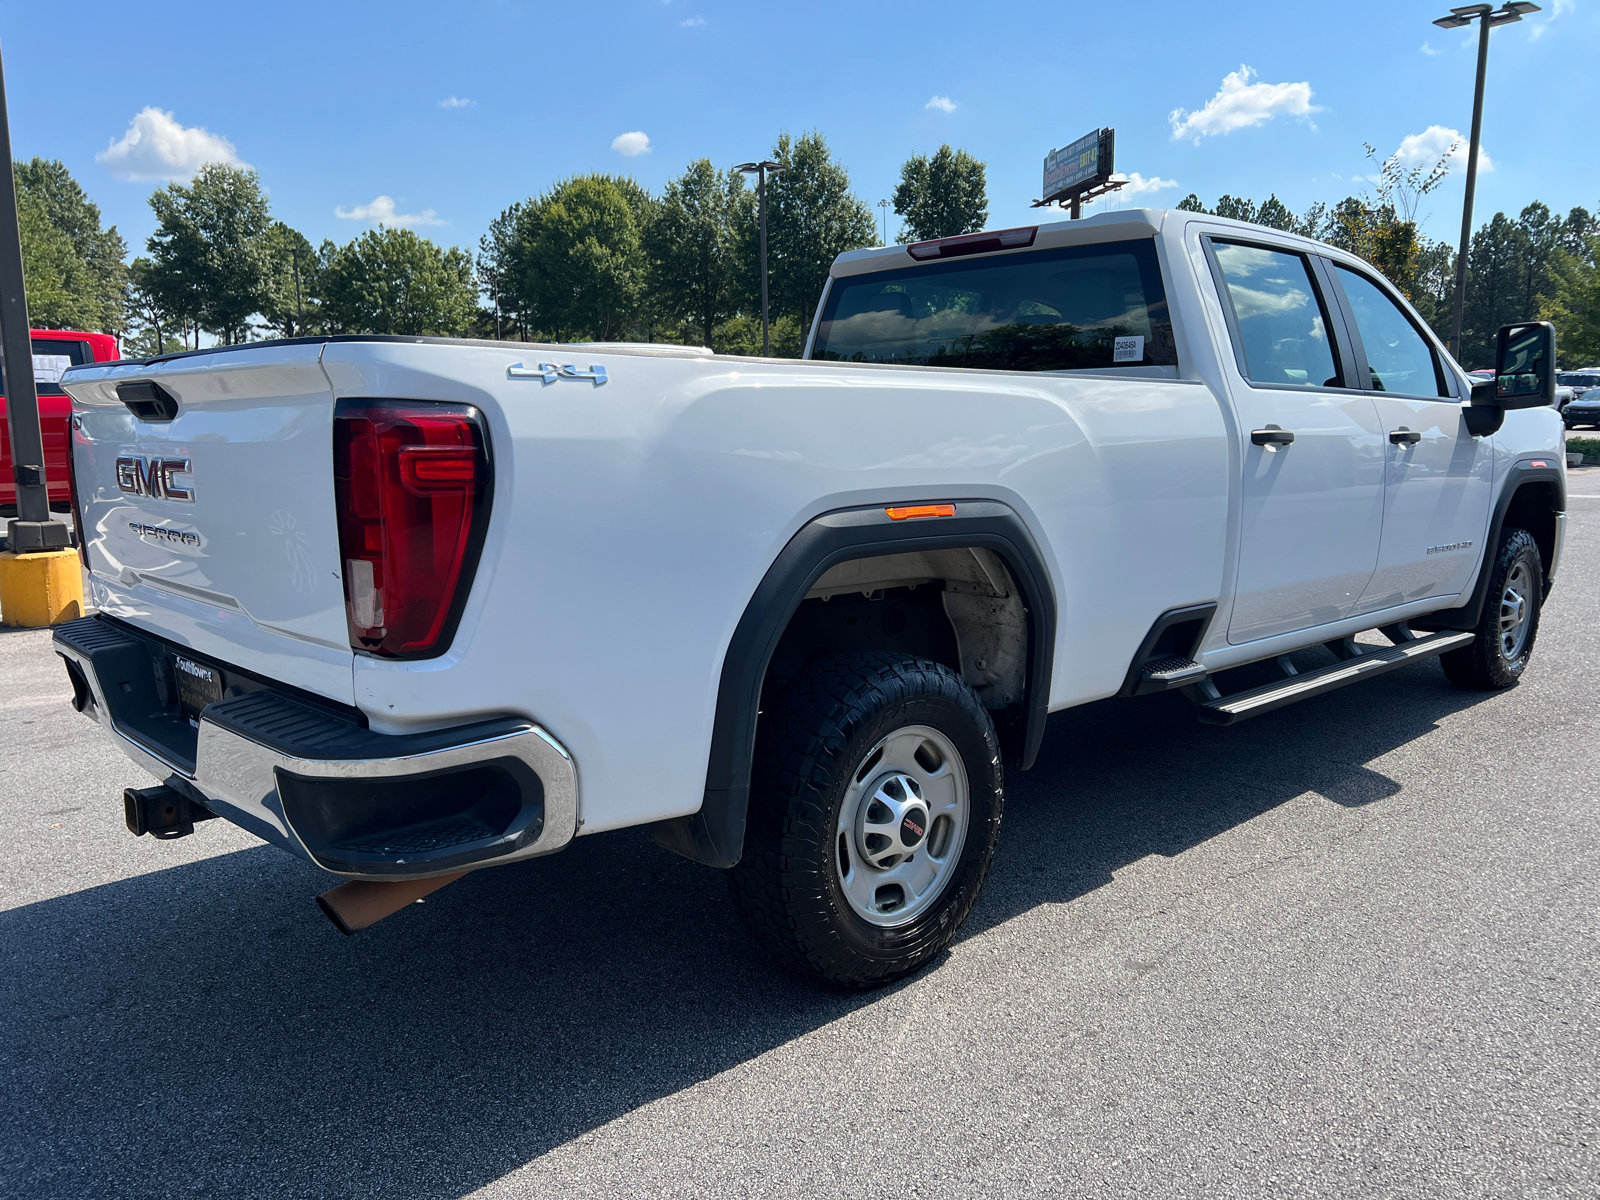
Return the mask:
[[[72,453],[88,600],[202,659],[349,704],[350,643],[320,344],[78,368]],[[178,400],[142,421],[117,384]]]

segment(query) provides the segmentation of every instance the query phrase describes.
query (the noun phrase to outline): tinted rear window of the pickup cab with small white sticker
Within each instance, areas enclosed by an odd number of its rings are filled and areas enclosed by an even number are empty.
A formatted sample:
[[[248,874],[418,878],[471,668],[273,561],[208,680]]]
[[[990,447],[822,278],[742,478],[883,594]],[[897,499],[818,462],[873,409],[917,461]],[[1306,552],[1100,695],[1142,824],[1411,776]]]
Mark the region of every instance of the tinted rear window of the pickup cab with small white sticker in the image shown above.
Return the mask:
[[[811,357],[1002,371],[1178,365],[1152,238],[835,278]]]

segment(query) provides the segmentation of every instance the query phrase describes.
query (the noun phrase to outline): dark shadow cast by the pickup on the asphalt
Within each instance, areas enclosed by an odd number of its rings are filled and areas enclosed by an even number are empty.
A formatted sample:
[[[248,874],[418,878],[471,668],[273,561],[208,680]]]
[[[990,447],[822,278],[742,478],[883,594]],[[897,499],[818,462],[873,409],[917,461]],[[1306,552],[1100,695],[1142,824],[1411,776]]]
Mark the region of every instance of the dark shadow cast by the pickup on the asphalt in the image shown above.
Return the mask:
[[[963,936],[1306,792],[1382,802],[1363,763],[1475,699],[1406,669],[1237,730],[1178,698],[1061,714]],[[638,832],[350,939],[325,880],[259,848],[0,914],[5,1190],[461,1197],[885,995],[774,970],[722,878]]]

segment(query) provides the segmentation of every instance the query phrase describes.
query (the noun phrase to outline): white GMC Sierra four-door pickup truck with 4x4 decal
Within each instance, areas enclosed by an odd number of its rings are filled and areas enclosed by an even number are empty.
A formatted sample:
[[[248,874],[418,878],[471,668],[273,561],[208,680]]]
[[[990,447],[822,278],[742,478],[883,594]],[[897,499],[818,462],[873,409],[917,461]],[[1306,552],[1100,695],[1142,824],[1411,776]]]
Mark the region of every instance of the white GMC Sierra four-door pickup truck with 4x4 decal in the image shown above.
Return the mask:
[[[224,816],[350,880],[346,931],[648,824],[872,986],[962,925],[1050,712],[1181,688],[1227,725],[1427,656],[1514,683],[1562,552],[1554,350],[1507,326],[1474,387],[1360,259],[1126,211],[842,254],[798,362],[77,366],[98,614],[56,648],[160,781],[134,832]]]

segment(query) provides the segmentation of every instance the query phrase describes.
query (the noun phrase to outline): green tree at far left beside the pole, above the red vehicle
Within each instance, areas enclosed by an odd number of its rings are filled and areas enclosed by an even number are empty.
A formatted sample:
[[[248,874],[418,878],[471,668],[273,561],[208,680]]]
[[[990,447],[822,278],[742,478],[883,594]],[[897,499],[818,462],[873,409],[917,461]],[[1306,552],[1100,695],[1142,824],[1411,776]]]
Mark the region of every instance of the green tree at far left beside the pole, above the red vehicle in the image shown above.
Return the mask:
[[[35,157],[14,163],[14,171],[32,322],[42,328],[122,328],[128,246],[117,227],[101,229],[99,208],[59,158]]]

